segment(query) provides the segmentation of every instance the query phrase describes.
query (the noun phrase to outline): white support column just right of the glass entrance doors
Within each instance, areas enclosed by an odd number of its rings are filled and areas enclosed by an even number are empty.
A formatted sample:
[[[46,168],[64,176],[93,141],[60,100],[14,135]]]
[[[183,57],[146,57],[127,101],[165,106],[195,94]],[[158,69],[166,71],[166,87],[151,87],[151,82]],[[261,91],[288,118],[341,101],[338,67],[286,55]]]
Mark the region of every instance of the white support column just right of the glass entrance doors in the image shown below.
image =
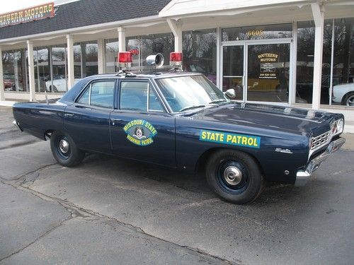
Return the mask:
[[[314,16],[314,84],[312,91],[312,109],[319,109],[321,104],[322,52],[324,47],[324,10],[319,2],[311,4]]]

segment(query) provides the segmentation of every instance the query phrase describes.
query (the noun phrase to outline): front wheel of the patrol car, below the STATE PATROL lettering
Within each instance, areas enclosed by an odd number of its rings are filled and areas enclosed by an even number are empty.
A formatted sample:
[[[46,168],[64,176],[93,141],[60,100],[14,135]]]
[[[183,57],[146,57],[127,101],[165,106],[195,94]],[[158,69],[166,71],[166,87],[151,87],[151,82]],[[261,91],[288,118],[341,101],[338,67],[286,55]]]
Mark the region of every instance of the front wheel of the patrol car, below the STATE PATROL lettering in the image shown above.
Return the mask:
[[[205,173],[210,187],[222,199],[234,204],[254,201],[263,189],[263,176],[258,164],[244,152],[217,151],[207,161]]]

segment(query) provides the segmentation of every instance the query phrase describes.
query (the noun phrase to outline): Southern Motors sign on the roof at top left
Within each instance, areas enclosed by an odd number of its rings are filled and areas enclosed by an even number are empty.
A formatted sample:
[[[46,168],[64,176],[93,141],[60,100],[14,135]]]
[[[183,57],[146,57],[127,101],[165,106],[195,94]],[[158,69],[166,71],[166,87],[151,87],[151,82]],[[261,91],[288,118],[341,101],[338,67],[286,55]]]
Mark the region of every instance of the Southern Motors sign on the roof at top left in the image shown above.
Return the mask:
[[[0,14],[0,28],[7,25],[16,25],[19,23],[27,23],[33,20],[43,18],[52,18],[54,16],[54,3],[42,4],[26,8],[20,11]]]

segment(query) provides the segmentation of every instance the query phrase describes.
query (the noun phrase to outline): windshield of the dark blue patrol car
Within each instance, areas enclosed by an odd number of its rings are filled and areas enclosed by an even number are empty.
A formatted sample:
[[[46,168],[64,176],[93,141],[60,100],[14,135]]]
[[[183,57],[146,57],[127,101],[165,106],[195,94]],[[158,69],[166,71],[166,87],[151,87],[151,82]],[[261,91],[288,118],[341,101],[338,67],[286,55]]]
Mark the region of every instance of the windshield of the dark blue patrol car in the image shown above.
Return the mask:
[[[176,76],[156,79],[172,112],[198,109],[211,103],[229,101],[205,76]]]

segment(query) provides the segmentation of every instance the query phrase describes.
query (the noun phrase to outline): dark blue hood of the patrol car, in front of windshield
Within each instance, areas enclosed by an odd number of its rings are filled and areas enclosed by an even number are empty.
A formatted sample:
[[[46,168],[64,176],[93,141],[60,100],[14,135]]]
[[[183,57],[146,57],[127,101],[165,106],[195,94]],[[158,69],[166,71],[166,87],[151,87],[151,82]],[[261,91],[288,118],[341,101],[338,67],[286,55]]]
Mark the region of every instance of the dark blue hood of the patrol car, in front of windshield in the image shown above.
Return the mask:
[[[341,117],[343,117],[342,114],[329,112],[238,102],[205,107],[204,110],[191,115],[193,119],[210,122],[252,126],[302,135],[313,134],[314,136],[329,131],[331,121]],[[217,124],[215,124],[215,129],[217,129],[216,126]]]

